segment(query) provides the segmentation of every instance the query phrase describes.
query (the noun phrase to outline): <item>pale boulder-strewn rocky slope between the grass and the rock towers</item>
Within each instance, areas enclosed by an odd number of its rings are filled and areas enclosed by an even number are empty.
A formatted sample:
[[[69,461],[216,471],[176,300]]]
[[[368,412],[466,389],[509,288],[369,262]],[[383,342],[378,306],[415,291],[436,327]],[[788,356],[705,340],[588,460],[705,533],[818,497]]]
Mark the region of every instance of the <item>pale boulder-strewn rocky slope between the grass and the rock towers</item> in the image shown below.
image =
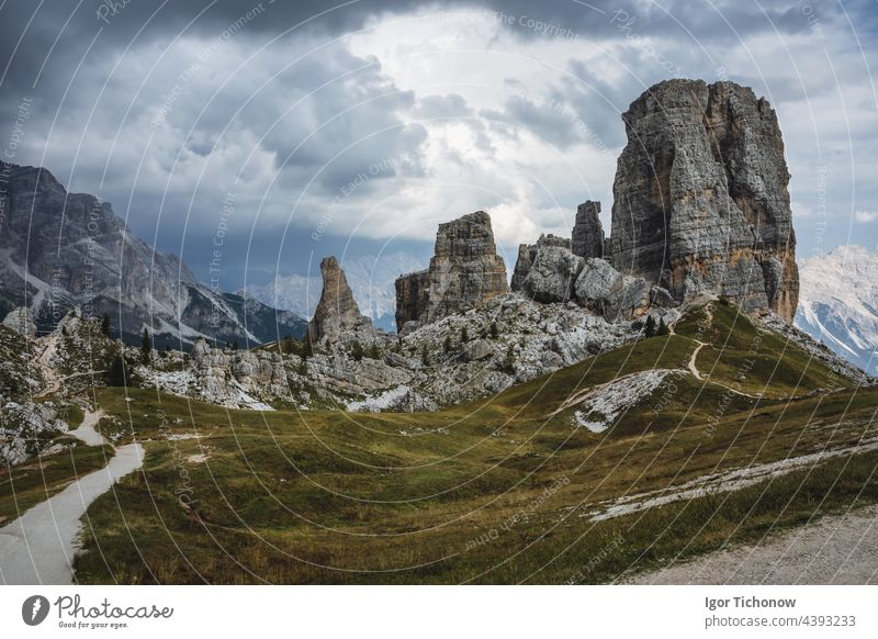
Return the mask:
[[[674,312],[667,312],[668,321]],[[507,293],[403,336],[349,330],[303,360],[279,347],[233,351],[195,346],[178,370],[138,368],[147,386],[212,403],[350,411],[434,411],[495,394],[638,339],[574,303]]]

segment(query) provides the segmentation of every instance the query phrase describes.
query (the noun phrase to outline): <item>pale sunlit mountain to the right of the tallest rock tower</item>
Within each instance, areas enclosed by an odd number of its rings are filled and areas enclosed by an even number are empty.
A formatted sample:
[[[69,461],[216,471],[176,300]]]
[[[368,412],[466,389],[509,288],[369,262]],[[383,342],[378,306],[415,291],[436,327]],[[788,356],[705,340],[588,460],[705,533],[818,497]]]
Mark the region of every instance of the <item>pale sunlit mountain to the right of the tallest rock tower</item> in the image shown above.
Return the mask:
[[[799,262],[796,326],[878,373],[878,253],[840,246]]]

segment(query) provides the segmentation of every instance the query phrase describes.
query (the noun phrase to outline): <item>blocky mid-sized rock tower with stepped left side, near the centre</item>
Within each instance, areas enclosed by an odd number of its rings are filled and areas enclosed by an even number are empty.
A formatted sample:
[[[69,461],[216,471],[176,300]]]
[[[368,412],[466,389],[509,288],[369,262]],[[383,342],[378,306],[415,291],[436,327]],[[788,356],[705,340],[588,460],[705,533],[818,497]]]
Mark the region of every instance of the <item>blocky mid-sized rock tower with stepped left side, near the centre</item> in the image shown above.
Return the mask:
[[[429,268],[396,280],[396,326],[429,324],[508,290],[491,216],[477,211],[440,224]]]

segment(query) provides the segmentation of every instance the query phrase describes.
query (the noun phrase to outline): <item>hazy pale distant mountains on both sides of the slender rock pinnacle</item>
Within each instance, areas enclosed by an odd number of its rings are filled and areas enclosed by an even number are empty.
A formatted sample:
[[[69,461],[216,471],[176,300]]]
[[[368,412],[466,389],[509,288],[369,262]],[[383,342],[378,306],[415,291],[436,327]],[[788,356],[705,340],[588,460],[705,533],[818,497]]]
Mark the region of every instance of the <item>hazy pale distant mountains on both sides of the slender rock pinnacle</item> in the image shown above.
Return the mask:
[[[396,290],[394,281],[403,273],[424,268],[424,262],[407,253],[397,251],[347,258],[341,268],[360,310],[382,328],[395,328]],[[263,304],[311,317],[320,299],[320,276],[278,276],[264,285],[247,285],[240,294]]]

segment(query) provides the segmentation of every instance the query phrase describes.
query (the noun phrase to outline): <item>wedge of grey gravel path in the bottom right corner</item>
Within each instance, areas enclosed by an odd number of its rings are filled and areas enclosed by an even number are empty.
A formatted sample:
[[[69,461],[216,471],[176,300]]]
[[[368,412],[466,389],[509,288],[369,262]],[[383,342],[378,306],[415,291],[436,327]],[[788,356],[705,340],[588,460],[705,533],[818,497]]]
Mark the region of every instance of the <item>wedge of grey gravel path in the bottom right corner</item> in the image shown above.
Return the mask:
[[[831,515],[622,580],[629,584],[878,584],[878,506]]]

